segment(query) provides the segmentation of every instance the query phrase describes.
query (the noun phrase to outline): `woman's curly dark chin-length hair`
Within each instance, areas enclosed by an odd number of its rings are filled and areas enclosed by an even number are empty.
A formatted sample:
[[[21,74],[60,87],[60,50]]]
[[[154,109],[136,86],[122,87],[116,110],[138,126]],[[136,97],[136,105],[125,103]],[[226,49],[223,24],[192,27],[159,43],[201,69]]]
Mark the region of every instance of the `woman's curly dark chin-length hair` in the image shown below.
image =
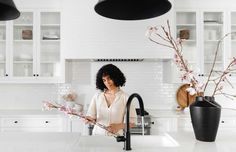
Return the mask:
[[[106,90],[107,87],[104,85],[102,77],[110,76],[111,80],[114,82],[114,85],[117,87],[122,87],[125,85],[126,78],[121,70],[113,64],[107,64],[102,66],[96,76],[96,88],[102,91]]]

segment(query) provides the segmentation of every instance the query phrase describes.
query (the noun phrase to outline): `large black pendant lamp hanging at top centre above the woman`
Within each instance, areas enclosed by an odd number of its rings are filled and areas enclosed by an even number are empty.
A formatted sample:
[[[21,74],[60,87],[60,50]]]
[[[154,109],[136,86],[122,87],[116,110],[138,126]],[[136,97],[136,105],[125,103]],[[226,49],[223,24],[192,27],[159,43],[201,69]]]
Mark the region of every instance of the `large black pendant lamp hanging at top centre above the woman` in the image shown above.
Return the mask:
[[[142,20],[165,14],[171,9],[168,0],[99,0],[95,11],[118,20]]]

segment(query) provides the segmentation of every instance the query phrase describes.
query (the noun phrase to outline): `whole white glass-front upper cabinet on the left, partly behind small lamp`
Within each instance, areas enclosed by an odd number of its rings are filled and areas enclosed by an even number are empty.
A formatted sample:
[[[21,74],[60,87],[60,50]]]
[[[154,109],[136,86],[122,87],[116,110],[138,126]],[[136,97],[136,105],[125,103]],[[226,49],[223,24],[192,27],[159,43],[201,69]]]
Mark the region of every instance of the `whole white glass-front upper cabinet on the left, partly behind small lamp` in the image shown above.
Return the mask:
[[[27,9],[0,24],[0,82],[63,82],[60,16],[58,10]]]

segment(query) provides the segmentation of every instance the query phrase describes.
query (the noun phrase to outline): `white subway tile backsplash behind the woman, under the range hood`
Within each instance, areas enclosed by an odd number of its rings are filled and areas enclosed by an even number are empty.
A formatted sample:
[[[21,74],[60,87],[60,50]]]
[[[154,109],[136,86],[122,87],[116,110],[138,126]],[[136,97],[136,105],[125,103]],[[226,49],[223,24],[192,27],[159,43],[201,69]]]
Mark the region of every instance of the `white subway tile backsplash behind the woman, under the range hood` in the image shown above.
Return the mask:
[[[84,93],[82,101],[89,104],[96,92],[96,73],[105,64],[112,63],[125,74],[127,82],[122,89],[128,94],[139,93],[146,108],[172,109],[175,105],[175,87],[162,82],[162,62],[72,62],[71,83],[78,93]],[[91,81],[86,81],[90,79]],[[84,90],[87,86],[90,89]],[[163,106],[162,106],[163,105]]]

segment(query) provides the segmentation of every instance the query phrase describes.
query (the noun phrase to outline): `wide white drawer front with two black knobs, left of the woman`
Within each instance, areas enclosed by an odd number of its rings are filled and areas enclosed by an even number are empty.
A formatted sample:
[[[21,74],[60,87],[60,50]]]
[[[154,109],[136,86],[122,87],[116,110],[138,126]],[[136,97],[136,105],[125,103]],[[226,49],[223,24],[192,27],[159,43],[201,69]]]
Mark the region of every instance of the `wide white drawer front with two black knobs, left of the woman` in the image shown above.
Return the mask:
[[[57,127],[62,119],[56,118],[2,118],[2,127]]]

